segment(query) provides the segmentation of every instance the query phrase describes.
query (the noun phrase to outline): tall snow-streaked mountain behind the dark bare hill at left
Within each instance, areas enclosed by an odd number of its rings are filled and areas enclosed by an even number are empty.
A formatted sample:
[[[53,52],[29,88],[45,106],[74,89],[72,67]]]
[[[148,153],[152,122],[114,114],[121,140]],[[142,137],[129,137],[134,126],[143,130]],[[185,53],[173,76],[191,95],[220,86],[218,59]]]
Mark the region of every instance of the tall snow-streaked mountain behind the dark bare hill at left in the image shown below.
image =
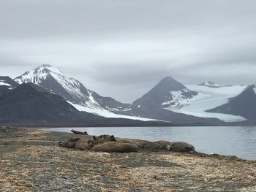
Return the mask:
[[[94,110],[119,111],[129,110],[129,104],[122,104],[110,97],[100,96],[94,91],[87,89],[81,82],[74,78],[67,77],[56,66],[42,65],[36,69],[25,72],[15,81],[20,83],[32,82],[42,88],[59,93],[72,104],[87,107]]]

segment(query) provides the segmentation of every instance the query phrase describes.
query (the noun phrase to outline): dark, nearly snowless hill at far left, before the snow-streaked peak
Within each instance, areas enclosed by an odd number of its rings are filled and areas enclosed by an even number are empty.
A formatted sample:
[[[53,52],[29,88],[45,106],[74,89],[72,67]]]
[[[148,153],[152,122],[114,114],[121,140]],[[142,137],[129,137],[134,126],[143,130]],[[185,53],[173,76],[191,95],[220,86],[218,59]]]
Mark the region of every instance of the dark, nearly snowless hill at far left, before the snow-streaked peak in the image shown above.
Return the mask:
[[[75,123],[83,115],[57,94],[23,83],[0,97],[1,122]]]

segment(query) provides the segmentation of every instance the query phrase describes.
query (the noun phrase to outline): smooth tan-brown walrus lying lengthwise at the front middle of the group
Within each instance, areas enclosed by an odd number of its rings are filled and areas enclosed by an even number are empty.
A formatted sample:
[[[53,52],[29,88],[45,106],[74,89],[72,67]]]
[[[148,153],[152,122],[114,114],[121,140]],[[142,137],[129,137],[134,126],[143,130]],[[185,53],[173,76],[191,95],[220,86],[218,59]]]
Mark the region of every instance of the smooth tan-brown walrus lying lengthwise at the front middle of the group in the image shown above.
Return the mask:
[[[131,143],[104,142],[102,144],[94,145],[92,150],[107,153],[131,153],[138,152],[139,148],[137,145]]]

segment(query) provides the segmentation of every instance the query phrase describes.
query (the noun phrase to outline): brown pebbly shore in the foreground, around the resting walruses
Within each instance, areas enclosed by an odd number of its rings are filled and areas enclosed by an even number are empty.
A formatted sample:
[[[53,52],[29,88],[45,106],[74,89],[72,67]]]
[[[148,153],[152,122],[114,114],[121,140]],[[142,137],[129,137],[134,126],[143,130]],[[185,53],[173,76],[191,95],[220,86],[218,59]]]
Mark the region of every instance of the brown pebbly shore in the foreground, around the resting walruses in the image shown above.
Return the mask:
[[[256,191],[256,161],[59,147],[59,141],[70,137],[74,135],[0,128],[0,191]]]

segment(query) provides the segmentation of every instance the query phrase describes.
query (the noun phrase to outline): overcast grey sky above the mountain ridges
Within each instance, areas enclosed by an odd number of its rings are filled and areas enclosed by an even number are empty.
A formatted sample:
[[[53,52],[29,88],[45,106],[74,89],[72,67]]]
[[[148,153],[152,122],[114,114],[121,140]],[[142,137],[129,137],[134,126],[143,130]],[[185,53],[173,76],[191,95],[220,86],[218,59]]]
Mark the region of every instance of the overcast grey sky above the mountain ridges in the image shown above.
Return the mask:
[[[58,66],[132,102],[166,76],[256,82],[256,1],[0,0],[0,75]]]

